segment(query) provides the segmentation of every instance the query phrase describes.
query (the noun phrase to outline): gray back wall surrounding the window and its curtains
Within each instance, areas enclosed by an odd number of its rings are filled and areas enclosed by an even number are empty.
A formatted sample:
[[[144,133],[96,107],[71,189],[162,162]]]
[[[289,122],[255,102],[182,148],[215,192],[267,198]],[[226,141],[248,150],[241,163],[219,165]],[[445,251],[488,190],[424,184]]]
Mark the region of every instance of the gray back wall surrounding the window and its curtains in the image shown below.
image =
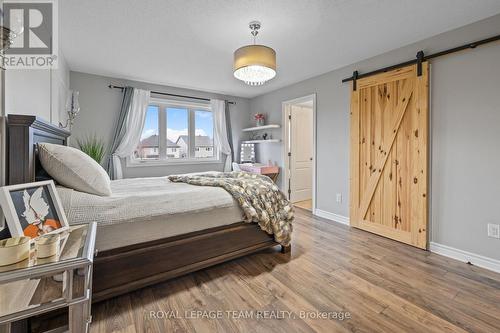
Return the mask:
[[[235,148],[238,147],[241,129],[248,127],[250,124],[250,119],[248,117],[250,103],[249,100],[245,98],[167,87],[145,82],[115,79],[86,73],[71,72],[70,87],[71,89],[78,90],[80,92],[79,101],[81,107],[81,111],[78,114],[78,118],[75,120],[75,126],[73,127],[71,133],[72,144],[75,144],[76,138],[82,138],[91,134],[96,134],[102,137],[102,139],[106,142],[107,147],[111,144],[113,131],[115,129],[120,111],[122,94],[120,90],[109,89],[108,85],[110,83],[119,86],[130,85],[137,88],[165,91],[173,94],[205,98],[222,98],[235,101],[236,105],[230,106],[231,126]],[[199,163],[176,166],[141,166],[129,168],[126,167],[124,162],[122,165],[124,177],[155,177],[186,172],[209,170],[222,171],[223,169],[223,164],[221,163]]]

